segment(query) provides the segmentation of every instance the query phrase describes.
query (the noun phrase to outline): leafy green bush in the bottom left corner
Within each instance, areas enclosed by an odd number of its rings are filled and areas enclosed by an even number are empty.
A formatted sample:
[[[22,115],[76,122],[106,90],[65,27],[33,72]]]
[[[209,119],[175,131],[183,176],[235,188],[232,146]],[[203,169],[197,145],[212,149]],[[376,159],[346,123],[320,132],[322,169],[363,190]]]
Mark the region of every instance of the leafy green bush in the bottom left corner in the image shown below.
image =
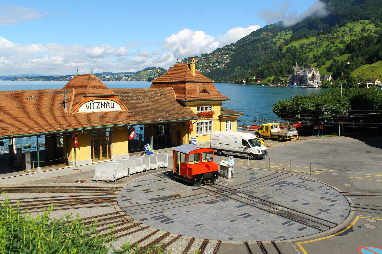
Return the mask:
[[[18,202],[18,201],[17,201]],[[21,212],[9,204],[8,198],[0,203],[0,253],[19,254],[106,254],[110,251],[118,254],[137,253],[129,243],[115,249],[109,238],[110,233],[99,236],[92,225],[81,222],[64,214],[60,219],[50,219],[53,206],[36,218]],[[111,227],[113,230],[113,227]],[[113,248],[113,249],[112,249]],[[154,252],[153,252],[154,251]],[[147,252],[144,252],[147,253]],[[150,253],[162,253],[151,250]]]

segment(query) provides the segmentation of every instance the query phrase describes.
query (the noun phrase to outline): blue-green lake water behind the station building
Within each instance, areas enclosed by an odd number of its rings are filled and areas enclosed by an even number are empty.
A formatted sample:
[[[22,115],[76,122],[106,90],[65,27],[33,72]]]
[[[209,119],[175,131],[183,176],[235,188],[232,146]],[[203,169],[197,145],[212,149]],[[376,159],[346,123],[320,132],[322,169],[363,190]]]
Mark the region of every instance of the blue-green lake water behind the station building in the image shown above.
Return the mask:
[[[148,81],[103,82],[109,88],[149,88],[151,86],[151,82]],[[68,81],[0,81],[0,90],[63,88],[66,83],[68,83]],[[261,85],[236,85],[232,83],[215,83],[215,86],[220,93],[230,98],[230,101],[225,103],[223,107],[244,113],[243,117],[238,118],[238,124],[254,123],[254,117],[263,119],[263,123],[273,121],[278,122],[280,121],[280,118],[272,112],[272,105],[277,102],[278,99],[283,100],[296,94],[324,93],[329,90],[328,88],[291,88]],[[139,133],[139,131],[136,131],[136,133]],[[44,138],[41,137],[39,142],[44,142]],[[36,138],[19,138],[16,140],[17,147],[26,144],[33,144],[32,146],[34,146],[36,144]],[[5,147],[3,148],[5,149]]]

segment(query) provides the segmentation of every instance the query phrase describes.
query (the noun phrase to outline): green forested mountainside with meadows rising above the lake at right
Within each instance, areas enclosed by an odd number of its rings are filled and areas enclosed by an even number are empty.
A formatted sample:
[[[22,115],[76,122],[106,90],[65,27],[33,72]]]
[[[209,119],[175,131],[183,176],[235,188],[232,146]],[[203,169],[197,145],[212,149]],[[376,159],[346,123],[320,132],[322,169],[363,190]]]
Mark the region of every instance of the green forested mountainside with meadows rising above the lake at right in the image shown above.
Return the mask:
[[[344,63],[349,61],[351,66],[344,72],[345,86],[355,87],[360,78],[369,75],[379,77],[382,74],[379,64],[382,60],[382,0],[321,1],[328,6],[328,16],[307,18],[290,27],[280,22],[258,29],[229,45],[230,54],[223,67],[200,71],[216,81],[253,82],[253,77],[290,74],[297,63],[300,67],[319,68],[320,74],[338,78]],[[221,49],[203,58],[219,51]]]

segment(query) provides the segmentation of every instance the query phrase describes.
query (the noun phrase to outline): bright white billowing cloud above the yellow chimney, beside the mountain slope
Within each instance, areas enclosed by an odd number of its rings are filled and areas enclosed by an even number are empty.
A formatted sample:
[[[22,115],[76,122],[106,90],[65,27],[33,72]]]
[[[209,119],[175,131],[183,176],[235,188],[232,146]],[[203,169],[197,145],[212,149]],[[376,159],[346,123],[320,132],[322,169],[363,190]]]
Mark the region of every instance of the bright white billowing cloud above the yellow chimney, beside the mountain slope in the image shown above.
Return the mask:
[[[259,25],[247,28],[235,27],[228,30],[227,34],[217,37],[205,34],[203,31],[193,31],[185,28],[177,34],[172,34],[170,37],[165,38],[162,49],[171,51],[179,59],[210,53],[218,47],[236,42],[259,28]]]

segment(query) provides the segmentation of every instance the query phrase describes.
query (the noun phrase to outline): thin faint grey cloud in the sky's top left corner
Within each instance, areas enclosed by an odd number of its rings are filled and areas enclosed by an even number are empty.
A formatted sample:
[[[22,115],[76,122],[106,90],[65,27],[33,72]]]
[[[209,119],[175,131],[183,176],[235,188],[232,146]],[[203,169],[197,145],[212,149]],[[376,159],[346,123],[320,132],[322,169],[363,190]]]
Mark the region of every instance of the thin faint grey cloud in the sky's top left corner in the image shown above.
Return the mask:
[[[26,20],[42,19],[48,14],[48,12],[40,12],[36,8],[2,5],[0,6],[0,26],[20,24]]]

